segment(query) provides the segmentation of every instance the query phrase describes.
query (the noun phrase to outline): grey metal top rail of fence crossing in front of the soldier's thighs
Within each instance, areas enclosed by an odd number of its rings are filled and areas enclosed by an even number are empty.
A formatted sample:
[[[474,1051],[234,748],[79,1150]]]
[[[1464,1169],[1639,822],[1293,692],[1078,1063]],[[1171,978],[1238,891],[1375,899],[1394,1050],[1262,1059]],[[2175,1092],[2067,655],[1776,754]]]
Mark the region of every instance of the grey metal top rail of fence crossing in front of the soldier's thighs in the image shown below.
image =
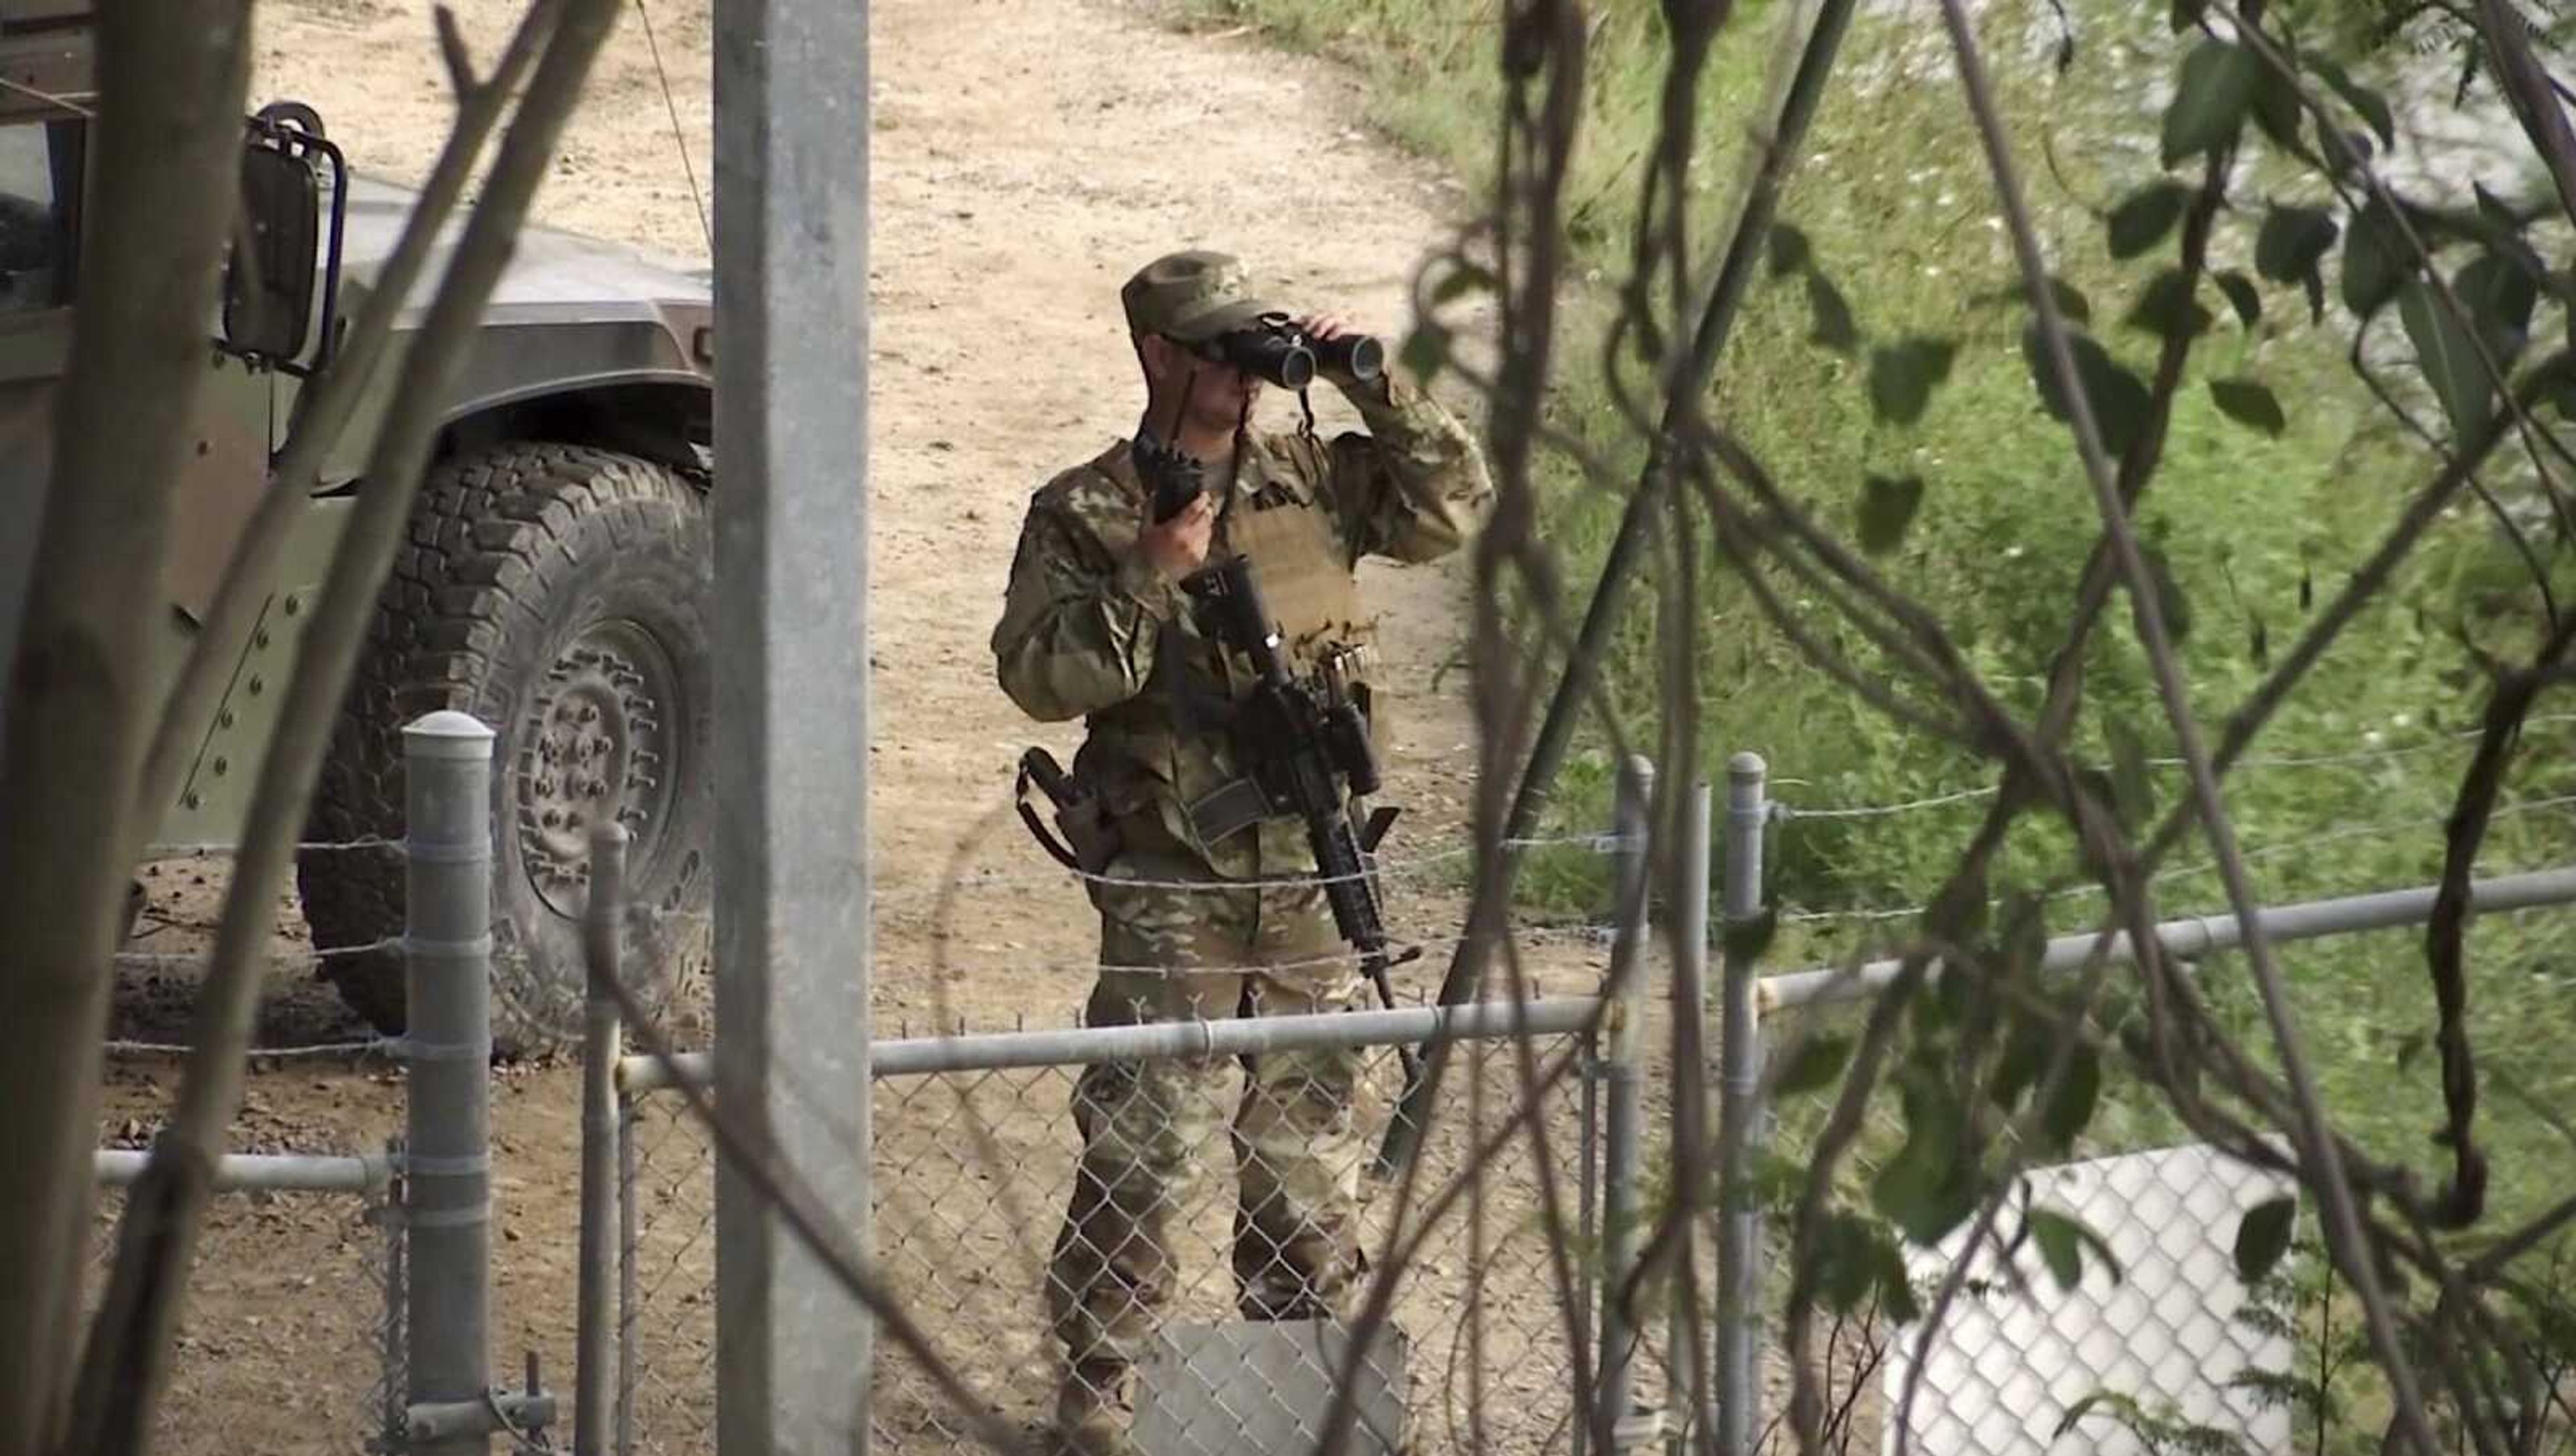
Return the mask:
[[[1321,1011],[1306,1016],[1234,1016],[1221,1021],[1151,1021],[1141,1026],[1069,1026],[1054,1032],[992,1032],[976,1037],[912,1037],[868,1047],[873,1078],[933,1073],[992,1073],[1005,1068],[1061,1068],[1126,1060],[1231,1057],[1239,1052],[1296,1052],[1319,1047],[1396,1047],[1430,1039],[1551,1037],[1595,1024],[1595,996],[1546,1001],[1484,1001],[1473,1006],[1404,1006],[1396,1011]],[[703,1088],[714,1078],[711,1052],[618,1060],[626,1096],[672,1086]]]

